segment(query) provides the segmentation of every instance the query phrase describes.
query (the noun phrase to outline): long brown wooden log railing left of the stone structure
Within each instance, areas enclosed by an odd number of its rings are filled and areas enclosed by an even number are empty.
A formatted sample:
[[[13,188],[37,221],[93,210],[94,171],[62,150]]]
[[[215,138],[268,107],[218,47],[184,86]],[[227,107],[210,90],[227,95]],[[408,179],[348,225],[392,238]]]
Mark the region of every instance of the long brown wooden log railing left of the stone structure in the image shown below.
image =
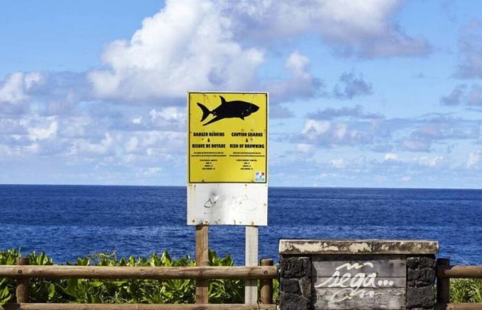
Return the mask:
[[[266,309],[274,310],[273,279],[277,267],[273,260],[261,260],[261,266],[231,267],[106,267],[106,266],[30,266],[28,258],[19,258],[17,265],[0,265],[0,278],[17,279],[17,303],[4,304],[8,310],[189,310],[189,309]],[[53,304],[30,303],[29,278],[92,278],[92,279],[242,279],[261,280],[260,300],[256,304]],[[204,299],[205,300],[205,299]],[[1,306],[0,306],[0,309]]]

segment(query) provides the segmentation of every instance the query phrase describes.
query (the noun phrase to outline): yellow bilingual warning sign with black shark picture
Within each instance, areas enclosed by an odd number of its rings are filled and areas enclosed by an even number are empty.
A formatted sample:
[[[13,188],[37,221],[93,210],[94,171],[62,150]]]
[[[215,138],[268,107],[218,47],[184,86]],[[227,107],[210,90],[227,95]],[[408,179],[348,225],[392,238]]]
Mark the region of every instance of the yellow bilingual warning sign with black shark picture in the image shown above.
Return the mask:
[[[268,94],[189,92],[189,183],[266,183]]]

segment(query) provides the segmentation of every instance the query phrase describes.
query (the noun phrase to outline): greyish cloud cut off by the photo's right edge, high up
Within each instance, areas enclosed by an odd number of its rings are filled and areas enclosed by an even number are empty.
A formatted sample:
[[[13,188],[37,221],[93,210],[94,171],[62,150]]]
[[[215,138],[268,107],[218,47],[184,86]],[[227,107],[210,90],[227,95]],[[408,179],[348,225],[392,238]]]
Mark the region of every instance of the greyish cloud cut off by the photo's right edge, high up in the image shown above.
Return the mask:
[[[465,25],[459,35],[459,65],[454,76],[460,79],[482,78],[482,19]]]

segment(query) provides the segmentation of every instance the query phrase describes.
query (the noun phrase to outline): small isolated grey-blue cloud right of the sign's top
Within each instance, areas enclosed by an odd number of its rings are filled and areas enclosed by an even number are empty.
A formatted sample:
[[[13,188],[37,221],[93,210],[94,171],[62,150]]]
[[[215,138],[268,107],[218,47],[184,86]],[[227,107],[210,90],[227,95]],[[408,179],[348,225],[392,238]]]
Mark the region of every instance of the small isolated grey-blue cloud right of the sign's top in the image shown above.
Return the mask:
[[[371,83],[366,82],[361,75],[344,73],[339,77],[339,83],[333,88],[333,96],[337,99],[353,99],[357,96],[373,94]]]

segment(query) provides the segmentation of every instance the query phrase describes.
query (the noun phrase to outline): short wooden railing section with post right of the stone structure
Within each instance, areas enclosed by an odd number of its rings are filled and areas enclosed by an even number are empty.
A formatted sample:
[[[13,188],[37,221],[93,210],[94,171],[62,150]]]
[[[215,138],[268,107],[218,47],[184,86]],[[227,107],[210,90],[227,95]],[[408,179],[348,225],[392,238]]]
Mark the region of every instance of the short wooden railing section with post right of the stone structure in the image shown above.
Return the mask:
[[[448,258],[437,259],[436,310],[482,309],[482,303],[450,303],[450,278],[482,278],[482,266],[450,265]]]

